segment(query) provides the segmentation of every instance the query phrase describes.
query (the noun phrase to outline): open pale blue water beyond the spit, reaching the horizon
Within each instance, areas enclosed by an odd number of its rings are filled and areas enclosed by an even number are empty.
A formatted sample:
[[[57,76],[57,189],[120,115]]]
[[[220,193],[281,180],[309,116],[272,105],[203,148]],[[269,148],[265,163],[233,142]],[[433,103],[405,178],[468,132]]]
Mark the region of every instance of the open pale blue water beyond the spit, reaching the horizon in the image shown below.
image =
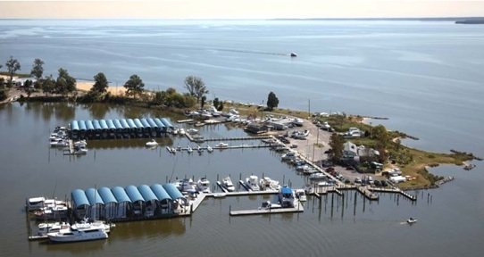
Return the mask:
[[[41,58],[46,74],[103,71],[121,87],[136,73],[181,91],[196,75],[209,98],[261,104],[274,91],[283,107],[388,117],[421,138],[408,145],[480,155],[482,46],[484,27],[452,22],[0,21],[0,60],[22,71]]]

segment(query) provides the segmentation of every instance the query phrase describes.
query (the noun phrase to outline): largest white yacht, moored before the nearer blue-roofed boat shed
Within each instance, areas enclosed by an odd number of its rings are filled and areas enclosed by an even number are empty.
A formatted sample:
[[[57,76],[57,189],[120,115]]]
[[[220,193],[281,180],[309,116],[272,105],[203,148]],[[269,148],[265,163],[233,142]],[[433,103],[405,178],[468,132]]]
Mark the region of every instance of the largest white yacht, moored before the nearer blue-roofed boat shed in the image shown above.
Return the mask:
[[[71,228],[58,232],[47,233],[50,241],[56,243],[79,242],[106,239],[108,237],[105,224],[102,222],[76,223]]]

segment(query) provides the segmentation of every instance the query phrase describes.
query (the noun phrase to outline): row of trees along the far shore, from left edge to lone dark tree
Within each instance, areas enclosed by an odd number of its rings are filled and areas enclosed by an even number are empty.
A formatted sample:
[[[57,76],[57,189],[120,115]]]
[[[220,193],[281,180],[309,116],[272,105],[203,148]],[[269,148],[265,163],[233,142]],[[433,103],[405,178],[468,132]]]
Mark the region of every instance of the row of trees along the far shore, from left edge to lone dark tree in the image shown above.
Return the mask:
[[[36,58],[32,63],[29,76],[33,79],[25,80],[23,89],[27,95],[30,95],[33,90],[42,90],[46,95],[63,95],[68,96],[70,94],[77,95],[76,83],[77,80],[73,78],[68,70],[60,68],[57,70],[57,77],[53,75],[44,77],[44,64],[41,59]],[[0,85],[3,85],[3,91],[0,91],[0,100],[2,95],[5,95],[5,86],[13,87],[13,75],[18,70],[21,70],[21,63],[10,56],[9,60],[5,62],[7,68],[7,74],[9,80],[5,83],[4,78],[0,78]],[[0,65],[0,69],[3,66]],[[108,92],[109,80],[106,78],[103,72],[97,73],[94,77],[94,85],[91,87],[87,94],[80,95],[79,101],[84,103],[103,102],[113,98]],[[148,102],[150,104],[163,105],[167,107],[176,108],[191,108],[196,104],[199,104],[201,108],[204,108],[206,102],[206,95],[209,93],[204,81],[196,76],[188,76],[184,81],[184,86],[188,90],[188,93],[179,93],[175,88],[169,87],[164,91],[148,92],[146,94],[145,83],[137,74],[133,74],[123,84],[126,89],[126,96],[133,97],[135,100]],[[119,96],[116,96],[119,98]],[[279,104],[277,96],[270,92],[267,99],[267,109],[272,110]],[[213,106],[221,111],[223,110],[223,102],[218,98],[213,99]]]

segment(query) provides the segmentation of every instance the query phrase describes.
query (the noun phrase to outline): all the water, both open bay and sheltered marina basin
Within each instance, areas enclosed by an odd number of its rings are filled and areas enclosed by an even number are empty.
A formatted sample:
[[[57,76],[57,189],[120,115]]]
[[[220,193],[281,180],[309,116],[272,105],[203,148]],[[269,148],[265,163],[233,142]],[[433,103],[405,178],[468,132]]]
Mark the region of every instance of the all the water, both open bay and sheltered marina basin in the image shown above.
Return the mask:
[[[420,141],[405,144],[484,155],[482,101],[484,29],[446,22],[387,21],[0,21],[0,60],[11,54],[28,71],[34,58],[46,73],[59,67],[77,78],[104,71],[113,85],[132,73],[146,87],[183,90],[183,79],[204,79],[211,96],[261,103],[274,91],[284,107],[389,117],[390,129]],[[281,54],[296,52],[297,58]],[[248,89],[248,90],[247,90]],[[435,170],[457,179],[438,190],[415,192],[417,204],[394,195],[345,203],[313,199],[301,214],[229,218],[229,208],[259,206],[262,198],[207,200],[187,219],[121,224],[109,240],[78,245],[27,241],[25,197],[64,198],[74,188],[164,183],[185,176],[232,178],[263,173],[303,185],[277,154],[265,149],[177,155],[150,151],[144,140],[89,143],[70,158],[46,136],[73,119],[163,116],[104,105],[0,106],[0,255],[246,256],[480,256],[484,250],[482,169]],[[173,117],[176,119],[176,117]],[[376,121],[374,121],[376,122]],[[205,128],[204,135],[241,136],[238,129]],[[245,142],[250,144],[252,142]],[[187,145],[181,138],[163,144]],[[481,165],[480,163],[477,163]],[[431,201],[427,201],[427,194]],[[321,206],[321,208],[320,208]],[[332,211],[331,211],[332,210]],[[413,227],[401,224],[418,217]]]

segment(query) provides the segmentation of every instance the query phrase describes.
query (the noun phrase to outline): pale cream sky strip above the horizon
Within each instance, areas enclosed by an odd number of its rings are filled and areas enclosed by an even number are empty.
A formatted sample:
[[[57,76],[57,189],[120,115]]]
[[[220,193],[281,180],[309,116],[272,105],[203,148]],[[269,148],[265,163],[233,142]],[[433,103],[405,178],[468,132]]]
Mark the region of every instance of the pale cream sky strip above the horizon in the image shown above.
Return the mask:
[[[484,0],[0,0],[0,19],[482,17]]]

